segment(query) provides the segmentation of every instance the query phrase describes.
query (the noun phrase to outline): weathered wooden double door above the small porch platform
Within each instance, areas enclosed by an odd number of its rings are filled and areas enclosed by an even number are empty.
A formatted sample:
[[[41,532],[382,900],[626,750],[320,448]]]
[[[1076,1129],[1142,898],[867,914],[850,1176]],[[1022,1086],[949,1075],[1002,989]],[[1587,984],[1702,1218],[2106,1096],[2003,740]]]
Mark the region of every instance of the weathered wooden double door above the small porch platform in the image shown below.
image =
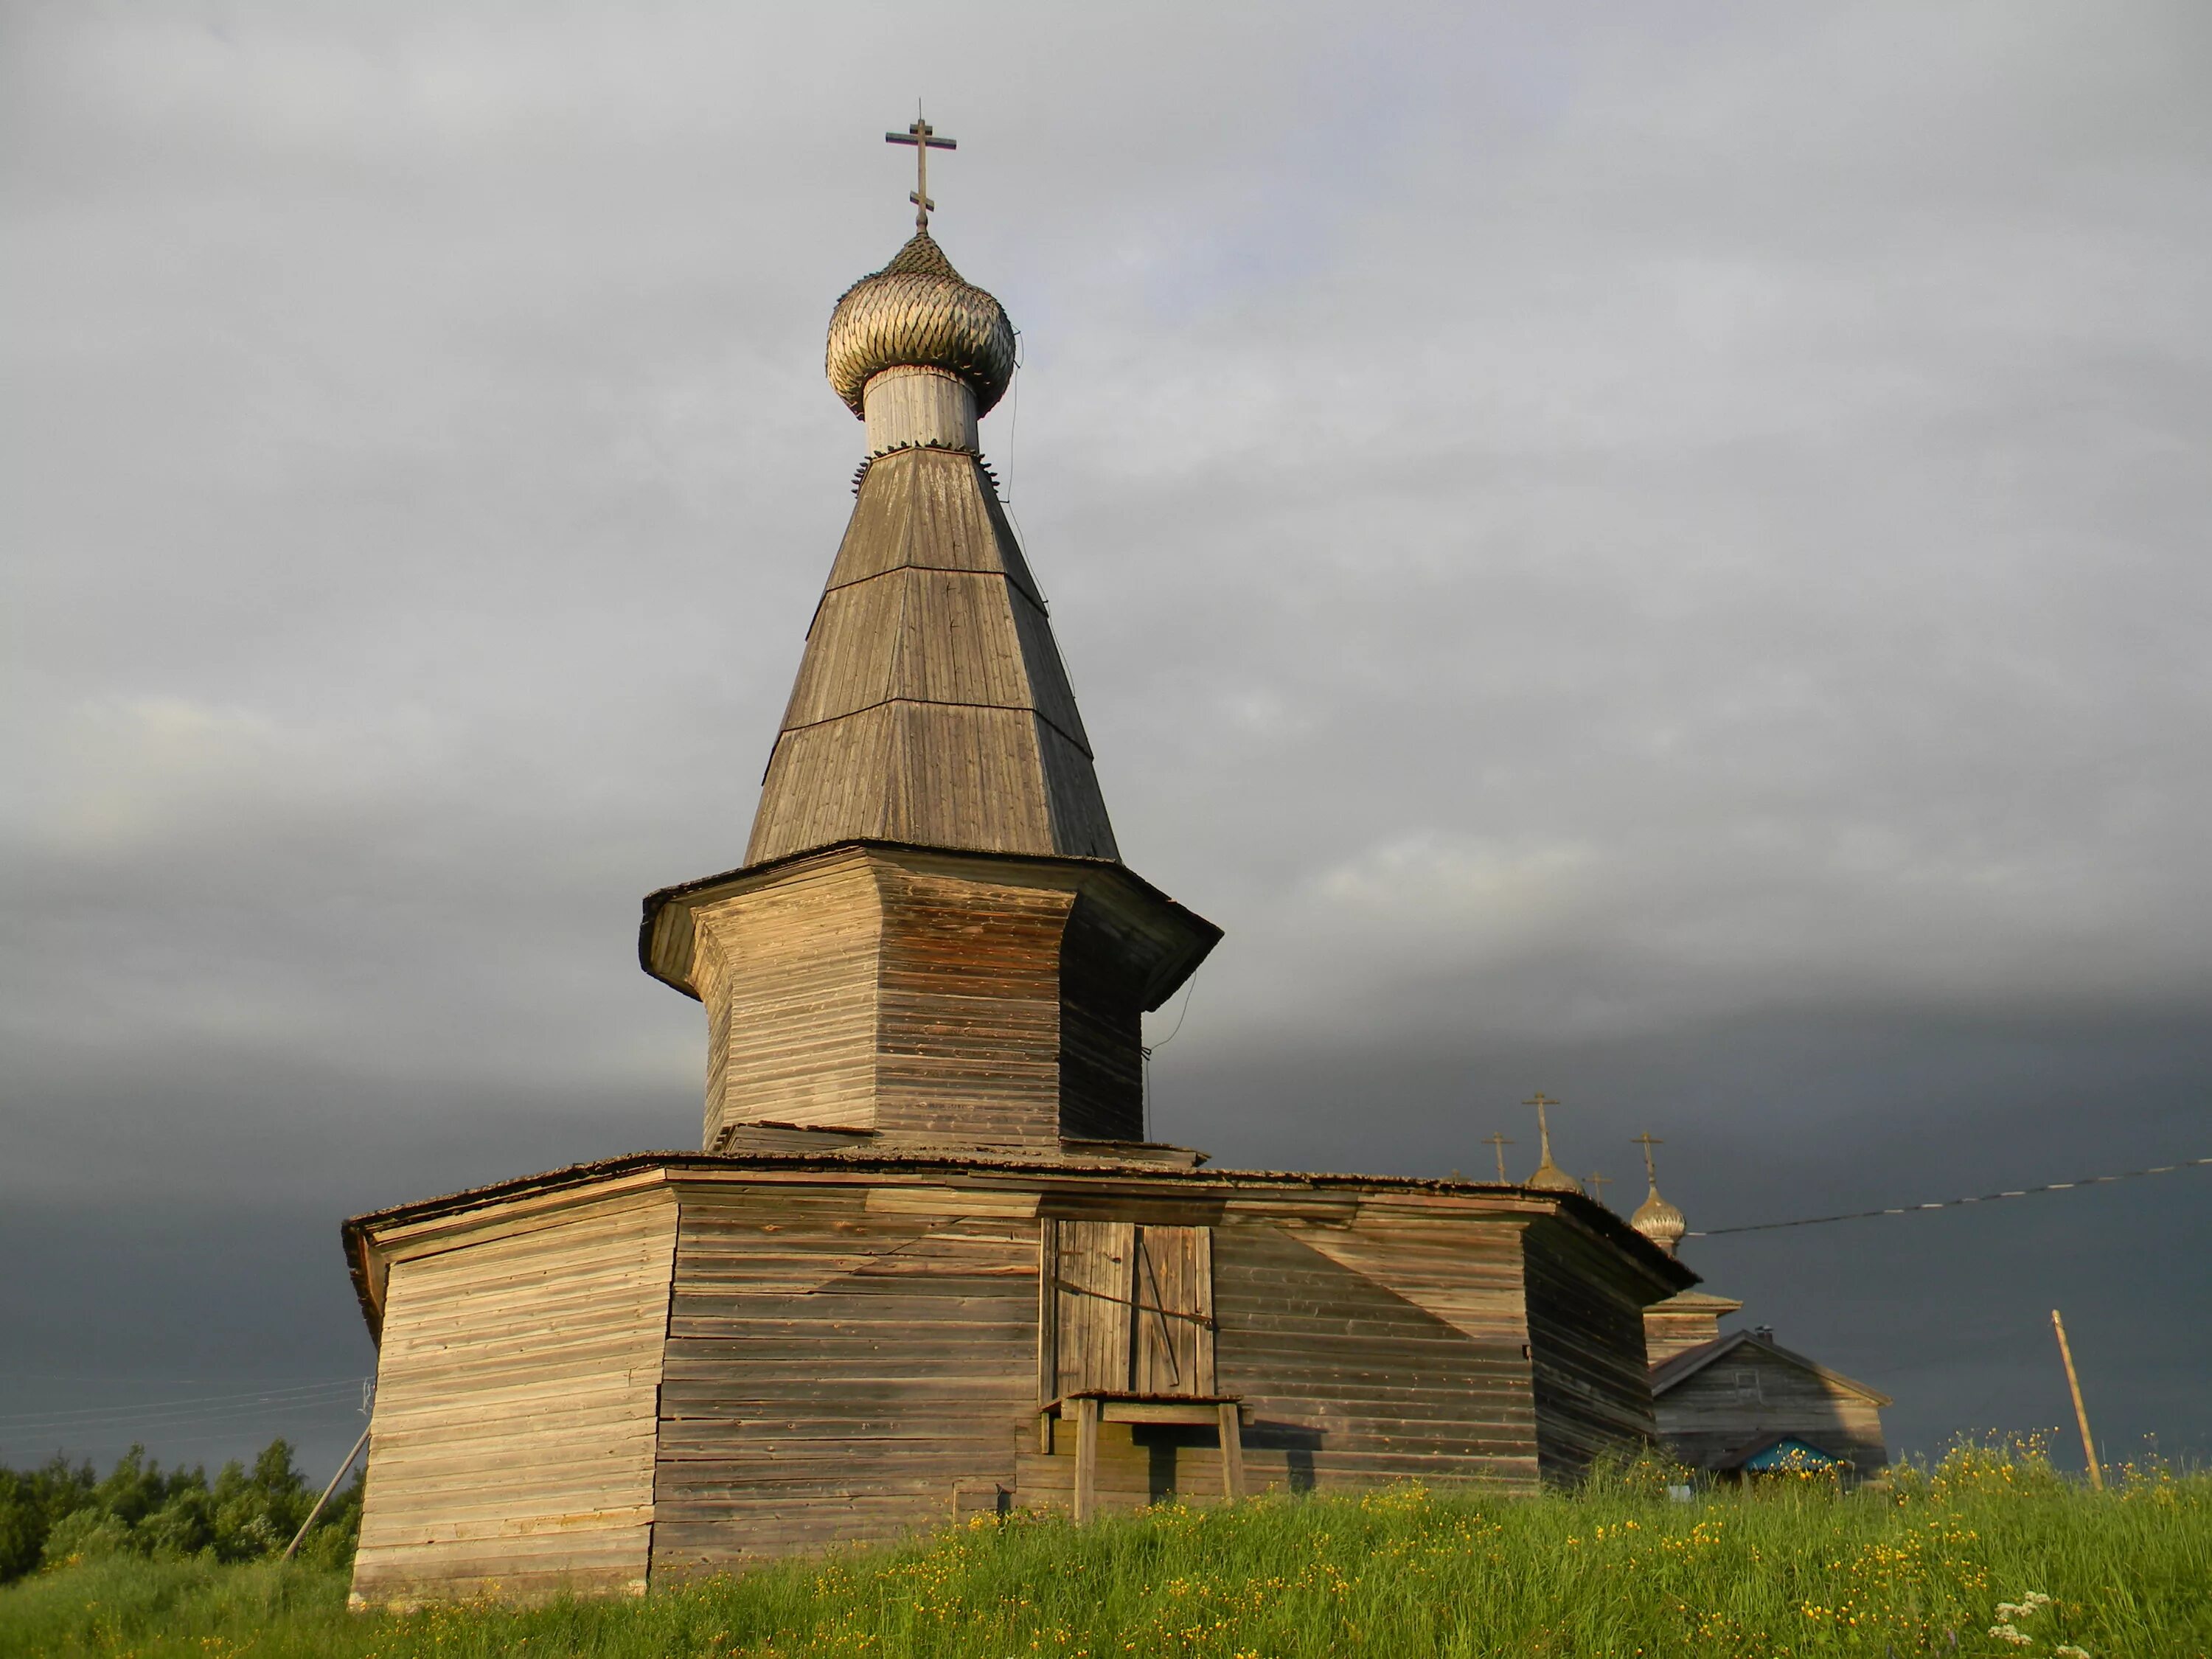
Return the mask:
[[[1212,1394],[1210,1228],[1046,1221],[1037,1391]]]

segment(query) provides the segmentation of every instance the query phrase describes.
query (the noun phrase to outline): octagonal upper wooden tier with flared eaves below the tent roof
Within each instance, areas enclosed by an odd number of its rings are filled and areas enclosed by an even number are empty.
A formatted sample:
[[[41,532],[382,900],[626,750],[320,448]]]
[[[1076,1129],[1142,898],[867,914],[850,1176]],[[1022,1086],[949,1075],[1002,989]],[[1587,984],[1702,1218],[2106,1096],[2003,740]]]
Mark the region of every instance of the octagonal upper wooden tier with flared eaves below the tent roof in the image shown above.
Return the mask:
[[[847,845],[646,900],[737,1124],[1057,1152],[1144,1139],[1139,1020],[1221,929],[1119,865]]]

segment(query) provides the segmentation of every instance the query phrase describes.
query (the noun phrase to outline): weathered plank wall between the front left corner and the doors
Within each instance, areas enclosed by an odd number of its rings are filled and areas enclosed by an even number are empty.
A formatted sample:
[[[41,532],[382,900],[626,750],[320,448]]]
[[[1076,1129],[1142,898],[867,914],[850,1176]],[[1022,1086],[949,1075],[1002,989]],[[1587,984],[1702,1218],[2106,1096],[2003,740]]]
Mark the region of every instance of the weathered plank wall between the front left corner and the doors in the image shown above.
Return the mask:
[[[1035,1199],[931,1208],[872,1206],[865,1186],[686,1192],[655,1573],[896,1537],[1013,1491],[1035,1411]]]

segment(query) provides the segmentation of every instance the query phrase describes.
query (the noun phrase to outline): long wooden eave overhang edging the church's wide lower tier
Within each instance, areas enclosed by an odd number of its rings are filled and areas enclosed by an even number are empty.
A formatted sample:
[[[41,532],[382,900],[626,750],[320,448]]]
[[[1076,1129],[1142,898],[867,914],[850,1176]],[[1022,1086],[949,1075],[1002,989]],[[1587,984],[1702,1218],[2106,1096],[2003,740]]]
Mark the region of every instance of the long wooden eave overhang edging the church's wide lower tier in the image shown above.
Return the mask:
[[[787,1183],[898,1183],[960,1186],[973,1192],[1106,1192],[1130,1199],[1237,1199],[1274,1197],[1274,1206],[1303,1197],[1310,1203],[1305,1221],[1347,1223],[1367,1203],[1400,1203],[1422,1210],[1464,1214],[1467,1199],[1484,1199],[1482,1212],[1542,1221],[1557,1217],[1579,1232],[1615,1245],[1659,1296],[1688,1290],[1697,1274],[1659,1250],[1650,1239],[1621,1221],[1613,1210],[1579,1192],[1535,1192],[1495,1181],[1436,1181],[1413,1175],[1327,1175],[1301,1170],[1199,1170],[1137,1159],[1084,1157],[1013,1157],[1013,1155],[900,1155],[885,1150],[838,1152],[628,1152],[595,1164],[571,1164],[564,1170],[524,1175],[511,1181],[447,1192],[436,1199],[398,1203],[349,1217],[341,1225],[347,1270],[361,1316],[369,1334],[383,1338],[385,1261],[383,1250],[414,1243],[440,1232],[460,1232],[478,1210],[520,1206],[531,1212],[553,1212],[575,1203],[595,1203],[624,1192],[646,1192],[677,1181],[787,1181]],[[1438,1201],[1447,1203],[1438,1203]],[[1807,1360],[1809,1363],[1809,1360]],[[1856,1387],[1856,1385],[1854,1385]],[[1885,1400],[1887,1405],[1887,1400]]]

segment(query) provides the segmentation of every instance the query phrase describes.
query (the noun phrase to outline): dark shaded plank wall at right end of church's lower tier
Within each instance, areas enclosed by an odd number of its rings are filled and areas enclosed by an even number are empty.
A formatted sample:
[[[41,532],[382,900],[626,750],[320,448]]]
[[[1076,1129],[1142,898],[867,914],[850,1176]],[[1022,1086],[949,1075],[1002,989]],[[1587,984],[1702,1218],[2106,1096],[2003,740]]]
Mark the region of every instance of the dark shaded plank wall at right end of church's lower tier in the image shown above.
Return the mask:
[[[1528,1352],[1544,1480],[1652,1442],[1644,1303],[1655,1285],[1601,1239],[1557,1219],[1522,1234]]]

